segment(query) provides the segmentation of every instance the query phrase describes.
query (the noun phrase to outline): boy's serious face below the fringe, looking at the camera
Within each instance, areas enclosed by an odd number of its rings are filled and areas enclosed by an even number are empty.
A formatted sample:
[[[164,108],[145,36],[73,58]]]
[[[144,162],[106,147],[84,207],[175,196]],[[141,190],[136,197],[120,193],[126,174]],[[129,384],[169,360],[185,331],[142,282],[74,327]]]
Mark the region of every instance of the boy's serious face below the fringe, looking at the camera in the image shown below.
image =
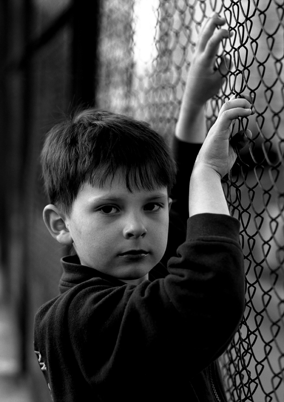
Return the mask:
[[[82,265],[137,283],[165,252],[168,212],[166,187],[131,193],[117,173],[103,188],[84,183],[65,224]]]

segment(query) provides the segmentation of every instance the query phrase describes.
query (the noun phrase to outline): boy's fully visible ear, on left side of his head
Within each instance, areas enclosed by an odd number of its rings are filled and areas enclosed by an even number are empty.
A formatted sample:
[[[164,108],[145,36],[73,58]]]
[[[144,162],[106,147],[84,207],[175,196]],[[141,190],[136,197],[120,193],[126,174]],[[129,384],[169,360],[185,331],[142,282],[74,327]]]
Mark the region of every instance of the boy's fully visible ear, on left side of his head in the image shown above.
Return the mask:
[[[54,239],[65,246],[73,244],[72,237],[66,225],[66,216],[55,205],[49,204],[44,208],[43,220]]]

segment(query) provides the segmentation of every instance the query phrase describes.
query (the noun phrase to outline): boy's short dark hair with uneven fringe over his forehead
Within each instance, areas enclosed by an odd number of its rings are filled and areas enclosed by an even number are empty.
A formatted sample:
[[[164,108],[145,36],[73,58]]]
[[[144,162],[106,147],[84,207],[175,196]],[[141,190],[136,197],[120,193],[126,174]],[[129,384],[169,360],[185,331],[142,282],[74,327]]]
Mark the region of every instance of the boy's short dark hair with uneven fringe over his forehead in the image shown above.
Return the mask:
[[[170,191],[176,173],[168,146],[148,124],[94,109],[50,130],[41,164],[50,203],[66,213],[84,182],[102,187],[120,168],[129,191],[157,186]]]

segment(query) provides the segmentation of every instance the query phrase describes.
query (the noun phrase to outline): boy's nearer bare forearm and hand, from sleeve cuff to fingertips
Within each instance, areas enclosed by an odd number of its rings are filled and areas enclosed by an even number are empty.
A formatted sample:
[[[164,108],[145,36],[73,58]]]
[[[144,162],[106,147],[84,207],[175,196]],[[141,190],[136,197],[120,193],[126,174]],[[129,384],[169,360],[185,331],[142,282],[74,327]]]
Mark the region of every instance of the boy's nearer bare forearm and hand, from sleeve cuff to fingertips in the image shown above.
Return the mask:
[[[201,213],[230,215],[221,178],[228,173],[236,160],[231,141],[232,122],[254,113],[250,97],[243,96],[233,96],[222,106],[197,156],[190,183],[190,216]],[[242,148],[247,139],[251,138],[251,131],[237,133],[233,138],[239,139],[234,141],[234,146]]]

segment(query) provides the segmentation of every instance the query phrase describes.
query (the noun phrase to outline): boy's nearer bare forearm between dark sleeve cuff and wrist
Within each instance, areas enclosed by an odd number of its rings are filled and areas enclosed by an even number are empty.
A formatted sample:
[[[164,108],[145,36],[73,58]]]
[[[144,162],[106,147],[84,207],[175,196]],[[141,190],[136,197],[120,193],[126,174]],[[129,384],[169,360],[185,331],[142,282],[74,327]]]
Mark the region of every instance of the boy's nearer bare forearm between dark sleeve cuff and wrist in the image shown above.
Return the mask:
[[[196,166],[190,183],[190,217],[197,214],[230,215],[220,175],[206,166]]]

